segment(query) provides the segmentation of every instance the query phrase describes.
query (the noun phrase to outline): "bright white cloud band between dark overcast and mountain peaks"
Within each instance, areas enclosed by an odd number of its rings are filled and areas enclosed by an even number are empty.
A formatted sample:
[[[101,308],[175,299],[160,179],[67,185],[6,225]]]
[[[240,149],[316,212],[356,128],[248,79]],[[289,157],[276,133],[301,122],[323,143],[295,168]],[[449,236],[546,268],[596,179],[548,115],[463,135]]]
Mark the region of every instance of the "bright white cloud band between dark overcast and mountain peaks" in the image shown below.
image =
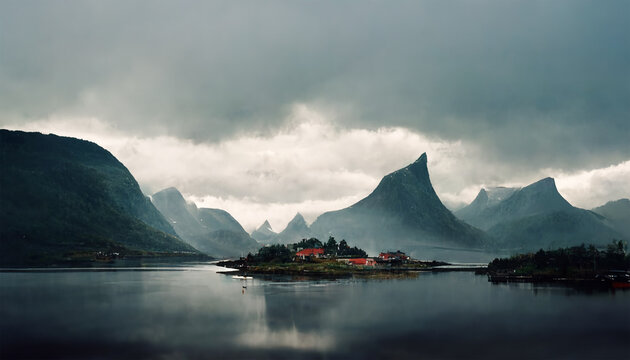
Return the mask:
[[[403,127],[348,129],[335,125],[336,116],[295,104],[274,133],[213,143],[130,136],[96,118],[52,117],[9,128],[94,141],[129,168],[145,193],[175,186],[200,207],[227,210],[249,231],[265,219],[281,231],[297,212],[312,222],[347,207],[423,152],[436,192],[453,206],[470,202],[481,187],[524,186],[546,176],[556,177],[561,193],[586,208],[630,193],[630,161],[579,172],[529,171],[485,157],[475,144]]]

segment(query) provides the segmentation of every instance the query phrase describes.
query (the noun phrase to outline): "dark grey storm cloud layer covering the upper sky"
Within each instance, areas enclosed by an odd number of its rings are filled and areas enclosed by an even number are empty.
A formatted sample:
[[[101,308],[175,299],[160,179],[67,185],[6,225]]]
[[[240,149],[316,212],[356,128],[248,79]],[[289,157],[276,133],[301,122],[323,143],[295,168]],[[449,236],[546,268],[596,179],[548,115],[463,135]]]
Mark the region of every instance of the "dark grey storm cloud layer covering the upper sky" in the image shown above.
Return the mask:
[[[523,167],[628,159],[627,1],[15,1],[1,123],[97,116],[197,141],[294,103],[463,139]]]

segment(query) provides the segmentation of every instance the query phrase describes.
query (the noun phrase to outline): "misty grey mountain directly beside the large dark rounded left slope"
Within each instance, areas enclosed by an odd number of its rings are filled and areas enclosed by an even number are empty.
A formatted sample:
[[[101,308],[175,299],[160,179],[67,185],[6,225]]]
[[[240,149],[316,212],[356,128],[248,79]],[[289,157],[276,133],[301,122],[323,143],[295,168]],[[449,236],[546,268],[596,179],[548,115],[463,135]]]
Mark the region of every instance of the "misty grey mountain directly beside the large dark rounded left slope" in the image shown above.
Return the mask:
[[[206,254],[235,257],[260,247],[228,212],[199,209],[173,187],[153,194],[151,200],[182,239]]]

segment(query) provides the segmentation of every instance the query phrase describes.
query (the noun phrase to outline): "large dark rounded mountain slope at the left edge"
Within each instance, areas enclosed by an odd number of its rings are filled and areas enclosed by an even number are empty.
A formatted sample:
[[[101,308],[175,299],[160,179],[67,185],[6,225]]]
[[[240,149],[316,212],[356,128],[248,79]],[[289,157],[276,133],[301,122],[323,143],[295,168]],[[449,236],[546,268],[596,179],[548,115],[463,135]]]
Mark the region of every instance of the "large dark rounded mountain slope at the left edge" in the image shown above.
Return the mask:
[[[198,253],[177,238],[127,168],[100,146],[0,130],[0,149],[2,264]]]

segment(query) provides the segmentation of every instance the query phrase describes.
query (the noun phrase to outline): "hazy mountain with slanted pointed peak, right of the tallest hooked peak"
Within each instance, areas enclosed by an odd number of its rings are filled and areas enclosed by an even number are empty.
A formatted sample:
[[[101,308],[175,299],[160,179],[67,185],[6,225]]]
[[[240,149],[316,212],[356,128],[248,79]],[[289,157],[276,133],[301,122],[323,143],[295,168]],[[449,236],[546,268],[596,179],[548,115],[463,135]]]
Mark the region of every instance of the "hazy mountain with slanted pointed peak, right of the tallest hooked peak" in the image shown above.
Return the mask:
[[[482,189],[469,206],[457,212],[464,221],[486,230],[496,247],[536,250],[604,245],[621,237],[606,218],[566,201],[552,178],[522,189],[501,189],[501,196],[496,192],[489,196]]]

